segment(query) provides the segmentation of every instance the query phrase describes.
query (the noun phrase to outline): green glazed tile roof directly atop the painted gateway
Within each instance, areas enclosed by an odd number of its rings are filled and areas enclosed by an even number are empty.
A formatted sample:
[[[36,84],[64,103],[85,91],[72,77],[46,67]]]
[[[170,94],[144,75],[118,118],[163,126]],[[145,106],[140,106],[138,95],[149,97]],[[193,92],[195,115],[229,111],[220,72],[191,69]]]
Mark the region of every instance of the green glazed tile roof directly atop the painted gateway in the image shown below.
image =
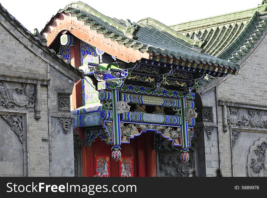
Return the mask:
[[[216,67],[223,68],[226,73],[239,70],[239,65],[236,63],[201,53],[202,49],[194,45],[193,39],[152,18],[142,19],[138,24],[132,23],[132,25],[139,25],[140,30],[136,34],[138,38],[130,39],[125,35],[126,21],[105,16],[83,2],[72,2],[59,12],[71,13],[71,16],[77,17],[78,21],[84,21],[84,25],[88,25],[90,30],[96,30],[104,38],[110,38],[111,41],[125,45],[127,48],[133,48],[143,53],[153,53],[168,59],[176,58],[190,62],[195,61],[198,64],[209,64],[215,66],[209,67],[214,71]],[[233,72],[233,74],[237,74],[237,72]]]

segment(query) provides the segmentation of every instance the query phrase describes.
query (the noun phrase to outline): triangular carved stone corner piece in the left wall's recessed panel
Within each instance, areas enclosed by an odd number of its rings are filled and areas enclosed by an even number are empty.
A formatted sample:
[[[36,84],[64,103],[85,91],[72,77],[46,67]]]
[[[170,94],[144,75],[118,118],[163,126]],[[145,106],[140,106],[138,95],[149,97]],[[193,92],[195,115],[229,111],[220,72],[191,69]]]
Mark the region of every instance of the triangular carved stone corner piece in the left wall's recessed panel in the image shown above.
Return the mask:
[[[23,143],[22,116],[1,115]]]

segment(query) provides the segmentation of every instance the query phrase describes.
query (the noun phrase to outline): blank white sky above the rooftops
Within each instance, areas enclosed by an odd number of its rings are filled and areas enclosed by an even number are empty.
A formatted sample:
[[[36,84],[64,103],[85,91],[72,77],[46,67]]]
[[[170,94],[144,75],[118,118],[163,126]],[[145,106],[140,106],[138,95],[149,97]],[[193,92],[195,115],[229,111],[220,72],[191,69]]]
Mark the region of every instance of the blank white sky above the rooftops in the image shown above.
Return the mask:
[[[27,29],[33,32],[44,28],[46,22],[71,0],[0,0]],[[255,8],[262,0],[83,0],[97,11],[111,18],[137,22],[151,17],[165,25],[211,17]]]

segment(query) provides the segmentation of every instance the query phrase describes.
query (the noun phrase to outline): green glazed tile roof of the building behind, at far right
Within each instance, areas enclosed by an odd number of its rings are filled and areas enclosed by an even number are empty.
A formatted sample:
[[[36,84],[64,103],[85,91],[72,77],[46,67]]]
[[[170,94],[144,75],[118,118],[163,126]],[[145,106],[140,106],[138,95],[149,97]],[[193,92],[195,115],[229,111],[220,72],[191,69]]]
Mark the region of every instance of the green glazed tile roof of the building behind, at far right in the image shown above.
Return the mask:
[[[238,63],[266,31],[267,4],[257,8],[169,26],[189,39],[198,34],[207,44],[203,49],[217,58]],[[261,17],[260,17],[261,16]],[[263,16],[263,17],[262,17]]]

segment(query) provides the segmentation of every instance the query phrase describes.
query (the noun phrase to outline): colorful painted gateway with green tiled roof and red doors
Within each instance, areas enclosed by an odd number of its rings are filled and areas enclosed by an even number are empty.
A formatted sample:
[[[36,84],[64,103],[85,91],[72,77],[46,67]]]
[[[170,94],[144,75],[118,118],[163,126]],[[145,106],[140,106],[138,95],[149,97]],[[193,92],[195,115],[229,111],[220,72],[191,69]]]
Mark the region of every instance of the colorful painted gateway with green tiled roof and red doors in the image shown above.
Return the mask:
[[[156,176],[161,147],[180,150],[178,161],[186,164],[194,149],[198,81],[239,70],[204,53],[207,43],[197,34],[188,38],[151,18],[137,24],[106,17],[83,2],[59,10],[41,35],[84,71],[71,96],[73,127],[82,139],[76,175]]]

